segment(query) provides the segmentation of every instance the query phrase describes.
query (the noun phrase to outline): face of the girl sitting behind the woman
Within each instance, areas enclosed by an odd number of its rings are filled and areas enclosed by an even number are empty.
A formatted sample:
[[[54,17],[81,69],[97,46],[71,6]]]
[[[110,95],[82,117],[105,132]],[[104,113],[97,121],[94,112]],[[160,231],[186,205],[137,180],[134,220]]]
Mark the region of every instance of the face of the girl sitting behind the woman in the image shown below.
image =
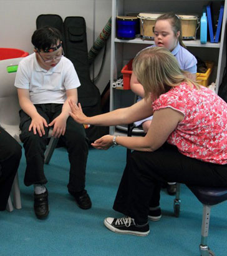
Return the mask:
[[[170,51],[176,47],[178,43],[178,37],[180,36],[180,31],[178,31],[177,36],[175,36],[173,29],[171,28],[170,21],[161,20],[157,21],[155,24],[155,44],[159,47],[165,47]]]

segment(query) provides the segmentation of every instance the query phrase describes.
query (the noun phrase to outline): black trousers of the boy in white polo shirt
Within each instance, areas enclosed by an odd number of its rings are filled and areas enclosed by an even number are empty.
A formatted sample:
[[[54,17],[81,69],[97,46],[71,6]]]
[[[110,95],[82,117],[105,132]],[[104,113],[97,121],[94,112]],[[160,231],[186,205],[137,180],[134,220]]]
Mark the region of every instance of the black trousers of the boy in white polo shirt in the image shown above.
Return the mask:
[[[63,104],[35,104],[37,112],[46,119],[47,124],[54,120],[62,112]],[[24,111],[20,111],[21,123],[21,141],[24,143],[26,155],[26,173],[24,184],[46,184],[47,179],[44,174],[44,152],[47,145],[47,135],[49,128],[44,127],[45,135],[42,137],[33,130],[29,132],[31,117]],[[65,135],[60,136],[69,153],[69,184],[67,185],[70,192],[80,192],[85,188],[85,169],[87,164],[87,155],[89,143],[82,124],[69,117],[67,119]]]

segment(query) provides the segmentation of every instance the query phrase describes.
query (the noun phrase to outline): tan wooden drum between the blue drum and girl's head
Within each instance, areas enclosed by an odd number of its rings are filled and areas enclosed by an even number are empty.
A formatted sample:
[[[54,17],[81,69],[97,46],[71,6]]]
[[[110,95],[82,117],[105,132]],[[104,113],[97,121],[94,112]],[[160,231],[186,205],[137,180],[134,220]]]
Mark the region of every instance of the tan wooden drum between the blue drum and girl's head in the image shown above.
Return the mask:
[[[161,13],[143,13],[138,14],[140,19],[140,35],[143,39],[154,39],[153,27],[155,27],[155,21],[157,17],[162,15]]]

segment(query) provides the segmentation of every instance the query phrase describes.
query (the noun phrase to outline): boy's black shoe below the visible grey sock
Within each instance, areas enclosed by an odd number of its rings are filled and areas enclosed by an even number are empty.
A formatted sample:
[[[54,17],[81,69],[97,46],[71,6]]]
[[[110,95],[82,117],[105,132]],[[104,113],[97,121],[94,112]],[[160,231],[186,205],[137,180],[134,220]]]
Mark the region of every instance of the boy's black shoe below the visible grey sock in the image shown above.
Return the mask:
[[[34,194],[34,211],[38,219],[45,219],[49,214],[48,191]]]

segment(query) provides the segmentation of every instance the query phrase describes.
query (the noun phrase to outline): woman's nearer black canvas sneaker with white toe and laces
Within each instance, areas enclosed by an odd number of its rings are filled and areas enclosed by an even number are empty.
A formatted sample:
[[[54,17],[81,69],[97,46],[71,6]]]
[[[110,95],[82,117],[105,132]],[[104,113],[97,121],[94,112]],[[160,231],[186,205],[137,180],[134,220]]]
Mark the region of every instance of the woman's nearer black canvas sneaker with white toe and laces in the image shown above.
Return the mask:
[[[135,224],[135,220],[128,216],[119,219],[111,217],[105,218],[104,225],[107,229],[118,234],[145,236],[150,232],[148,223],[144,225],[137,225]]]

